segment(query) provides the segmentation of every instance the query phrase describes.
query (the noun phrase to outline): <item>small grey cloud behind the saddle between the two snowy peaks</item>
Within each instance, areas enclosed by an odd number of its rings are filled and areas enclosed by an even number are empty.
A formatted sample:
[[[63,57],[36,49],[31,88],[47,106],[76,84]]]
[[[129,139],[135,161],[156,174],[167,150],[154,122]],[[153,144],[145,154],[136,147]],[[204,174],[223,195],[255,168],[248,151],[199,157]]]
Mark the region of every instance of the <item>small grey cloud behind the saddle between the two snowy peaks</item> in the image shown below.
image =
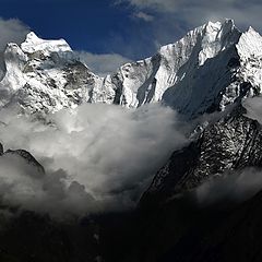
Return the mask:
[[[118,53],[103,53],[96,55],[86,51],[78,52],[80,61],[84,62],[94,73],[99,75],[106,75],[130,62],[130,59]]]

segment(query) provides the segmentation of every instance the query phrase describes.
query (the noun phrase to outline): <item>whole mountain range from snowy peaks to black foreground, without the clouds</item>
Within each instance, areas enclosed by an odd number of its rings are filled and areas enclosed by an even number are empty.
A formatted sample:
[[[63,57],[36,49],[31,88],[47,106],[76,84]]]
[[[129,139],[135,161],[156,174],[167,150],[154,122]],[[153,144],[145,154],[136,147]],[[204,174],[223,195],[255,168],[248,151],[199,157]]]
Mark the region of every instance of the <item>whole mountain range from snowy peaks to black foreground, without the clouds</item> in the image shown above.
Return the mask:
[[[75,226],[27,211],[0,235],[3,261],[261,260],[262,183],[250,186],[249,178],[262,167],[262,36],[252,27],[242,33],[231,20],[209,22],[106,76],[91,72],[63,39],[45,40],[34,33],[20,46],[9,44],[4,62],[2,109],[45,118],[85,103],[128,109],[158,103],[192,129],[188,144],[152,174],[135,211],[93,215]],[[1,151],[8,154],[45,172],[31,153]],[[245,179],[236,189],[239,178]],[[27,240],[31,225],[35,231]],[[28,247],[38,237],[48,248],[36,245],[33,252]]]

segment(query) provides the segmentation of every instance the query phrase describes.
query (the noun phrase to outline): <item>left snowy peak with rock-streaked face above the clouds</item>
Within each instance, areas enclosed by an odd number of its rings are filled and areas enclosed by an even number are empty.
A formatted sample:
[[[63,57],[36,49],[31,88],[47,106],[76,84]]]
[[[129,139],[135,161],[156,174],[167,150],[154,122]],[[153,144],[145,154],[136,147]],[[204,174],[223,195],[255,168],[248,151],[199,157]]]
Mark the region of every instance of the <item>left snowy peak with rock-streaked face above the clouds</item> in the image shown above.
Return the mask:
[[[20,47],[9,44],[4,58],[2,107],[19,106],[22,111],[40,114],[73,108],[86,97],[87,85],[99,81],[64,40],[44,40],[34,33]]]

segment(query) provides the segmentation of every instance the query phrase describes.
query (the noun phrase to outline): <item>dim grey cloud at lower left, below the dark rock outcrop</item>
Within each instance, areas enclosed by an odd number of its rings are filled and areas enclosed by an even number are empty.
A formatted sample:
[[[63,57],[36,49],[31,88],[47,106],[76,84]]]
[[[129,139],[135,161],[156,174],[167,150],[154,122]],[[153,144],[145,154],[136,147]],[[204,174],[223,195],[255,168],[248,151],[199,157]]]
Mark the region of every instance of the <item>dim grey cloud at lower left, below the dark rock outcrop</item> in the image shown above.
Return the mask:
[[[71,219],[86,214],[87,211],[98,211],[84,186],[76,181],[67,186],[64,179],[68,175],[61,169],[43,174],[24,158],[13,154],[2,156],[0,165],[2,207],[16,207],[19,212],[29,210],[49,213],[57,219]]]

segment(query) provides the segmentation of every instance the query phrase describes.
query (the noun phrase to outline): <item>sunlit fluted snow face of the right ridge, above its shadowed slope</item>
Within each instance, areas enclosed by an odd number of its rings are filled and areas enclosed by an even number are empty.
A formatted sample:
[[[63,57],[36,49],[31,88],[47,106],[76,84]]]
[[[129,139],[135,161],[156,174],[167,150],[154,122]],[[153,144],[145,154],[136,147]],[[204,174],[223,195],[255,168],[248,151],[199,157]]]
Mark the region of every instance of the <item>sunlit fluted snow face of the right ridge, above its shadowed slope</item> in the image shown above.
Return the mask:
[[[110,78],[114,84],[117,79],[117,84],[122,86],[119,103],[138,107],[163,100],[169,87],[187,79],[187,62],[194,64],[194,70],[198,70],[198,67],[215,57],[223,48],[235,44],[239,34],[233,21],[207,23],[190,31],[177,43],[162,47],[152,58],[124,64]],[[172,97],[164,98],[166,104],[174,106],[171,99]]]

